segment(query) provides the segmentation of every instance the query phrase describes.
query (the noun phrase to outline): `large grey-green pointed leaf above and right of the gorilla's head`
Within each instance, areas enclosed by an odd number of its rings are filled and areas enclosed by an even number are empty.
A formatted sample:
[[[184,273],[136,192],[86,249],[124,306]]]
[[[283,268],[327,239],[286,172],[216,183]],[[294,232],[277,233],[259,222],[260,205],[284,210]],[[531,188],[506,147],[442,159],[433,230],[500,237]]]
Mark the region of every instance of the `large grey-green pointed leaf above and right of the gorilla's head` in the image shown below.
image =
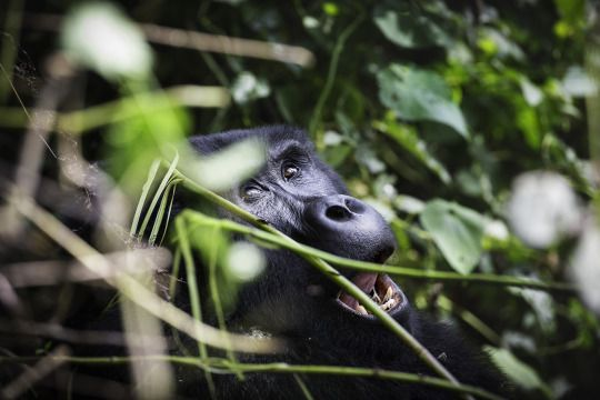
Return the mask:
[[[409,121],[434,121],[447,124],[462,137],[469,130],[452,92],[443,79],[431,71],[391,64],[377,74],[379,99],[398,117]]]

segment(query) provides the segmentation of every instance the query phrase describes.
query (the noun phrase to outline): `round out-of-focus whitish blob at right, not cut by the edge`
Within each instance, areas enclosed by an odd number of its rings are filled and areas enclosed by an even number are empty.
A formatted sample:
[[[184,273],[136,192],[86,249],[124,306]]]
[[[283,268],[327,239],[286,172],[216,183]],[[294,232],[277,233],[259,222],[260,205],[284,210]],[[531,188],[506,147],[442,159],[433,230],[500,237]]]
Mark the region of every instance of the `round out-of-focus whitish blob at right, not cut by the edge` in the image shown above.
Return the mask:
[[[519,176],[507,207],[508,220],[527,244],[547,248],[580,228],[581,209],[569,181],[554,172]]]

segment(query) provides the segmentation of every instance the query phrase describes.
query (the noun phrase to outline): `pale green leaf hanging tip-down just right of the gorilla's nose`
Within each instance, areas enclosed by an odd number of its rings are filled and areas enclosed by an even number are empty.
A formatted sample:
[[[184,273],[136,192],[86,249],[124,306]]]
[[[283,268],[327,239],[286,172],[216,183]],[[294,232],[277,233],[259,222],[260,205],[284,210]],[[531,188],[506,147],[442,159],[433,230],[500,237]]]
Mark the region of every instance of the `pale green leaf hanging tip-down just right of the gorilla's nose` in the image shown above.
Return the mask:
[[[448,263],[460,273],[469,273],[481,257],[483,217],[444,200],[427,203],[421,224],[431,233]]]

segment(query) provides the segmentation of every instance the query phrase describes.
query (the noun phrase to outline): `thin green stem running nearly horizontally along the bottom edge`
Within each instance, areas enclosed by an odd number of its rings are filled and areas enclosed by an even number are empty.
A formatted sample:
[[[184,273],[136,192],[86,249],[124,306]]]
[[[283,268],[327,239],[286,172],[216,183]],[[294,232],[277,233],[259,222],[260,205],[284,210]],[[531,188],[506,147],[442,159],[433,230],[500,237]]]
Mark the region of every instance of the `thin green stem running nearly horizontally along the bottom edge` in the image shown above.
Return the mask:
[[[70,362],[77,364],[123,364],[142,358],[148,361],[169,361],[172,363],[196,367],[212,370],[218,373],[234,373],[230,368],[230,362],[224,359],[201,360],[194,357],[177,356],[144,356],[144,357],[69,357],[69,356],[46,356],[46,357],[0,357],[0,363],[3,362],[34,362],[41,358],[51,358],[53,361]],[[271,372],[271,373],[304,373],[304,374],[331,374],[357,378],[374,378],[383,380],[394,380],[411,384],[423,384],[441,390],[449,390],[459,393],[468,393],[481,399],[501,400],[502,398],[490,393],[483,389],[460,384],[453,386],[447,380],[427,377],[417,373],[399,372],[384,369],[358,368],[358,367],[338,367],[338,366],[306,366],[288,364],[283,362],[276,363],[236,363],[236,370],[248,373]]]

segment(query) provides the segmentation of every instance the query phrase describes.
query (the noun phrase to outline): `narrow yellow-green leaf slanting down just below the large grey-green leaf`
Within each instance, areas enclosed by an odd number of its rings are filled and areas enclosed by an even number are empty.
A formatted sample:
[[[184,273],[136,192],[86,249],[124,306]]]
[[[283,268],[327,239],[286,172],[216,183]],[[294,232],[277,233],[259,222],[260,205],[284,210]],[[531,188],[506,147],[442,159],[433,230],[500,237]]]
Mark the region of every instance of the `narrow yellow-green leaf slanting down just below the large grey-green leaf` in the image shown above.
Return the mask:
[[[393,116],[388,116],[386,121],[373,121],[373,128],[392,138],[398,144],[421,161],[428,169],[434,172],[443,183],[452,180],[443,166],[429,153],[424,141],[417,136],[414,128],[398,123]]]

